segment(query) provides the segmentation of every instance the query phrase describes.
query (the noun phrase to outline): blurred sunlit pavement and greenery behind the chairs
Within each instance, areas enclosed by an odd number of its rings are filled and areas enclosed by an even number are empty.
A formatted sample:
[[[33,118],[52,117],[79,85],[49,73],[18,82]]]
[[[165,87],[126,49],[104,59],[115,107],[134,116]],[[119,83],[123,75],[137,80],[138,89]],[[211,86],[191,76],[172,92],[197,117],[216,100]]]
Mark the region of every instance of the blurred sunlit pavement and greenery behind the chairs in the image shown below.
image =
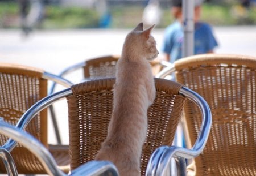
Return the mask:
[[[151,1],[142,0],[0,0],[0,62],[59,74],[86,59],[121,54],[127,33],[139,22],[156,24],[152,35],[161,51],[164,29],[174,22],[170,1],[149,6]],[[256,0],[207,0],[201,7],[201,20],[212,25],[218,42],[215,53],[256,57]],[[79,81],[77,75],[71,80]],[[61,107],[58,121],[68,143]],[[49,134],[55,143],[51,129]]]

